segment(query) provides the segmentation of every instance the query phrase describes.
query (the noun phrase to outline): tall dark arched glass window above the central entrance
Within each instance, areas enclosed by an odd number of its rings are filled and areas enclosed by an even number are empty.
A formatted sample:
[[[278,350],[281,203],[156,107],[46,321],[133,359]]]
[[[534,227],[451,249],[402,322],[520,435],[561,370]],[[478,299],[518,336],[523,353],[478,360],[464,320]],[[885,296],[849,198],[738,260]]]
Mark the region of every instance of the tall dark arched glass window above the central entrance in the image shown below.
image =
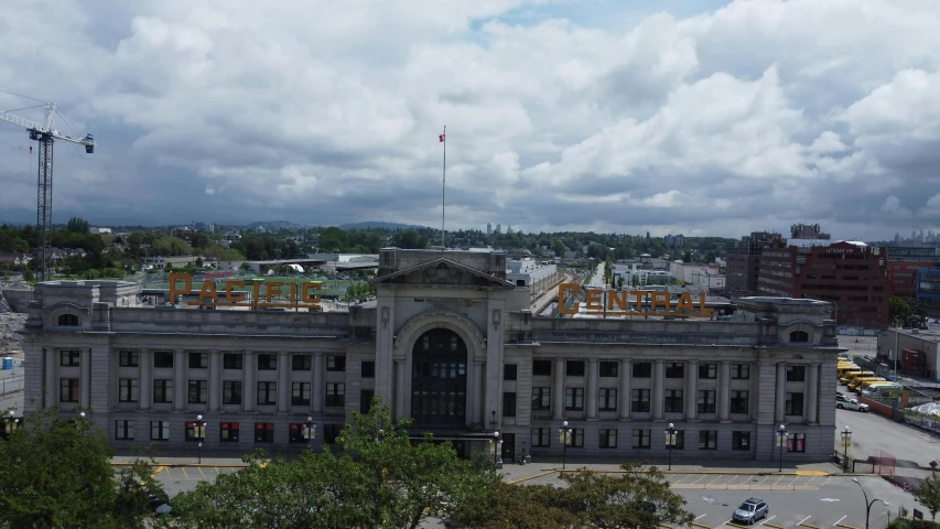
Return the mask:
[[[457,333],[433,328],[411,349],[411,417],[428,427],[464,425],[467,346]]]

